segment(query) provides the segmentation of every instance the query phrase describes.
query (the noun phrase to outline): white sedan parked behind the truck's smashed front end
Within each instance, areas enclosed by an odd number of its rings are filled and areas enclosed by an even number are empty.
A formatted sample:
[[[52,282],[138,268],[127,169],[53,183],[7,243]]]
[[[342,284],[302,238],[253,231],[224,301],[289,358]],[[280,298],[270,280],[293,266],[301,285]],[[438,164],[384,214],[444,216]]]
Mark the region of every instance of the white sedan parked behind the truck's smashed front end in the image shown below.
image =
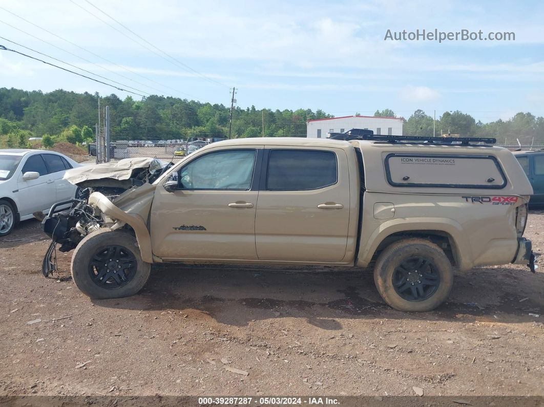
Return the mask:
[[[47,213],[54,203],[75,197],[77,187],[63,176],[76,167],[81,164],[54,151],[0,149],[0,236],[34,212]]]

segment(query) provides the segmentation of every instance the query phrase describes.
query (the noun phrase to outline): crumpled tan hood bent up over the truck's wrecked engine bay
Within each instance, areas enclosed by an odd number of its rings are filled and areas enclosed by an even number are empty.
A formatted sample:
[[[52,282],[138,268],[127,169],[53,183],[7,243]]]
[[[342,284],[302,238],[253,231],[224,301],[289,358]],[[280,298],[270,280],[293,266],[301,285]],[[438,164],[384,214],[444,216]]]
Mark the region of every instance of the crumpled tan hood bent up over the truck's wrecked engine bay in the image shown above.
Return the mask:
[[[132,171],[137,168],[151,168],[151,170],[154,170],[162,166],[163,162],[156,158],[125,158],[119,161],[104,162],[104,164],[72,168],[72,170],[64,173],[63,178],[73,185],[93,179],[113,178],[124,180],[131,178]]]

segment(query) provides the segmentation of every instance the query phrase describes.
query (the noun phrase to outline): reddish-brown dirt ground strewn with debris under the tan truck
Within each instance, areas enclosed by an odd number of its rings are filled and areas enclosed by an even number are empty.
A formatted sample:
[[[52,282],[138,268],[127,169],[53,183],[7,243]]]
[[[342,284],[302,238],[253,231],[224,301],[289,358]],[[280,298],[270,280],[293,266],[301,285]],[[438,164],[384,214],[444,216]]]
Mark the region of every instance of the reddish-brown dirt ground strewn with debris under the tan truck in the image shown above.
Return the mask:
[[[544,211],[526,236],[543,251]],[[139,295],[90,300],[71,253],[41,275],[47,245],[38,221],[0,239],[2,396],[544,395],[542,259],[456,273],[408,314],[329,268],[160,265]]]

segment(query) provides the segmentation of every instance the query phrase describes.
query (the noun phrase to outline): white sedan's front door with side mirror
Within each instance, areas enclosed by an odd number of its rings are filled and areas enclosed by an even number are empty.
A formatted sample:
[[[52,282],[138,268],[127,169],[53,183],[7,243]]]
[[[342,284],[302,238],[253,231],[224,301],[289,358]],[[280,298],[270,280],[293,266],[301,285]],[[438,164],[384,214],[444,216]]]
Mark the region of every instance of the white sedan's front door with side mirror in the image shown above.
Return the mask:
[[[40,177],[23,180],[25,172],[38,172]],[[54,180],[47,171],[42,154],[34,154],[27,158],[17,178],[19,213],[21,216],[51,208],[57,199]]]

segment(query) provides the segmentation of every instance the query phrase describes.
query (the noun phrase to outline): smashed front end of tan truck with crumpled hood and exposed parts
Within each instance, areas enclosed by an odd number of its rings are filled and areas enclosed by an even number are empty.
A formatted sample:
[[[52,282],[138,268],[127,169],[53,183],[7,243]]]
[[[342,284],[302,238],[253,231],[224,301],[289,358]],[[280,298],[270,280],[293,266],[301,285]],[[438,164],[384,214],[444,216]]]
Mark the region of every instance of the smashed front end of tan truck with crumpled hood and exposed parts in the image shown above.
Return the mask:
[[[143,224],[143,218],[151,208],[153,183],[172,163],[164,164],[157,159],[125,159],[115,163],[75,168],[66,171],[64,178],[76,185],[76,197],[52,206],[43,218],[44,233],[51,237],[51,244],[42,261],[42,273],[48,277],[57,270],[57,245],[60,252],[75,249],[89,233],[102,228],[131,228],[130,223]],[[143,185],[147,187],[142,188]],[[101,204],[101,201],[102,204]],[[112,217],[104,211],[104,202],[115,202],[128,214],[117,212]],[[110,205],[119,211],[118,206]],[[40,217],[39,214],[35,214]],[[128,220],[131,222],[126,222]],[[125,221],[120,218],[125,218]],[[134,222],[132,222],[134,221]]]

